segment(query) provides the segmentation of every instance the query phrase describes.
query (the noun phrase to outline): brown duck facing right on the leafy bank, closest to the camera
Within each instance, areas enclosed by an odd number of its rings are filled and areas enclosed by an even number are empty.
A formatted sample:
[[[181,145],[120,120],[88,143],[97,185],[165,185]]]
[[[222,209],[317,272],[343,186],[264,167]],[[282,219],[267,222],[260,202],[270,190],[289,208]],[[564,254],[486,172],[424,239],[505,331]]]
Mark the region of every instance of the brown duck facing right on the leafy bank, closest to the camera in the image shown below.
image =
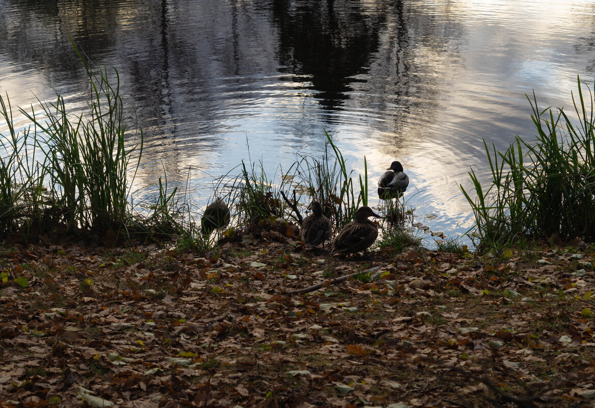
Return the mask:
[[[356,253],[372,246],[378,237],[378,227],[369,216],[381,218],[368,206],[358,208],[355,221],[349,222],[333,241],[333,253]]]

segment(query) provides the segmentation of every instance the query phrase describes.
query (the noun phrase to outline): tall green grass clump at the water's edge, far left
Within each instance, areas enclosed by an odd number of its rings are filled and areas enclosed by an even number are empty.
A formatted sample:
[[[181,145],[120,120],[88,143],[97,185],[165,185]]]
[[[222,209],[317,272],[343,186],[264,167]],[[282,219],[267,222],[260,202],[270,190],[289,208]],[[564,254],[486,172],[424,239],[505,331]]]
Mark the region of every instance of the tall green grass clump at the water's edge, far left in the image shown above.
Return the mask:
[[[152,214],[133,208],[143,133],[137,120],[127,127],[117,70],[96,70],[74,49],[89,78],[84,112],[71,114],[57,92],[55,102],[38,101],[40,111],[19,108],[29,125],[17,131],[8,96],[0,96],[8,128],[0,137],[0,231],[25,239],[52,232],[173,234],[180,228],[175,192],[168,194],[161,178]]]

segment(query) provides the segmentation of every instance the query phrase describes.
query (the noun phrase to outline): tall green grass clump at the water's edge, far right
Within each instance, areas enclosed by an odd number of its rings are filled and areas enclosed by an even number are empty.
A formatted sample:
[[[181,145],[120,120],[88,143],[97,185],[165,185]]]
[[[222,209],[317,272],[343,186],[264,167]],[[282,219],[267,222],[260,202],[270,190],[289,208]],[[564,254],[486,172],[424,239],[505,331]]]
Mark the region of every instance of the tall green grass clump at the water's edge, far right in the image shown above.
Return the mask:
[[[572,93],[576,118],[562,108],[540,110],[527,96],[536,139],[516,136],[505,152],[484,141],[491,182],[481,186],[469,172],[475,190],[461,187],[475,216],[471,237],[478,250],[510,246],[521,240],[559,234],[563,240],[595,239],[595,118],[593,95],[577,77]]]

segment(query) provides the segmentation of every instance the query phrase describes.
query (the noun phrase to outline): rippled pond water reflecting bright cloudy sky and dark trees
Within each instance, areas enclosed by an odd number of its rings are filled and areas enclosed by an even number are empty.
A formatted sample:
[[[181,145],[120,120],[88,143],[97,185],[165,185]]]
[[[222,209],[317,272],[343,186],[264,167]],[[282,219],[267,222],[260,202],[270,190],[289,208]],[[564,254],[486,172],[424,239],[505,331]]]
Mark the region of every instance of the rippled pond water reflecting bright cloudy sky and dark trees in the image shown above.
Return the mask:
[[[0,0],[13,106],[54,87],[81,108],[68,34],[120,74],[145,132],[139,185],[165,172],[206,205],[213,178],[317,157],[326,130],[356,173],[367,159],[372,205],[398,159],[418,221],[450,236],[472,225],[469,169],[488,180],[482,140],[531,139],[525,94],[569,108],[577,75],[592,89],[595,74],[592,1]]]

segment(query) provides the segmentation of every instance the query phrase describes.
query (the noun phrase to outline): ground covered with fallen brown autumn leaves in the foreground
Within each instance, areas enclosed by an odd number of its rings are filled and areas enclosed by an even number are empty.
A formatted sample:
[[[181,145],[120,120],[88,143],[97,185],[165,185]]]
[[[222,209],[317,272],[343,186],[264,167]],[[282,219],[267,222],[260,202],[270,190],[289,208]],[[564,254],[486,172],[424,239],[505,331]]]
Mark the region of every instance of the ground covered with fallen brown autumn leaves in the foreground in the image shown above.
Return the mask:
[[[594,406],[594,258],[7,247],[0,406]]]

